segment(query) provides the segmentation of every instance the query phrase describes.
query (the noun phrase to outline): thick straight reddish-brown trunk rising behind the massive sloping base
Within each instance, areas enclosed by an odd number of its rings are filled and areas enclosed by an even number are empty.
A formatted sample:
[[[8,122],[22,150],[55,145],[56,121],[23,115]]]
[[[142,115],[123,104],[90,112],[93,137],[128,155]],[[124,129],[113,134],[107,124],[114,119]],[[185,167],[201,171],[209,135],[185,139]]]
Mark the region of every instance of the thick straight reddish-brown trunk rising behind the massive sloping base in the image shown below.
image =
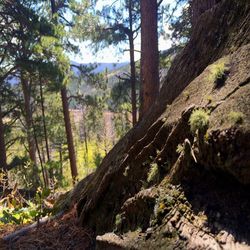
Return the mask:
[[[157,0],[141,0],[141,107],[140,119],[159,94]]]

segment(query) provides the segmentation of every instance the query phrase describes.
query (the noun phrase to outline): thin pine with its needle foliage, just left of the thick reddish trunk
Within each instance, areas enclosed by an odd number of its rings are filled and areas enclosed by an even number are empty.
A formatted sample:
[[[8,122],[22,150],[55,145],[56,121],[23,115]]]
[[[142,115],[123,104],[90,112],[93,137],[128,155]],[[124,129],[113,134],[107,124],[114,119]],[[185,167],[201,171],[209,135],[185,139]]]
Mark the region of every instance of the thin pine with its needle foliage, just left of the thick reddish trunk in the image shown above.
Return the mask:
[[[136,65],[134,40],[140,30],[140,8],[135,0],[123,0],[119,5],[116,2],[105,6],[99,15],[105,20],[105,25],[99,27],[94,34],[94,42],[101,42],[105,46],[128,42],[130,55],[130,88],[132,105],[132,124],[137,123],[137,94],[136,94]]]

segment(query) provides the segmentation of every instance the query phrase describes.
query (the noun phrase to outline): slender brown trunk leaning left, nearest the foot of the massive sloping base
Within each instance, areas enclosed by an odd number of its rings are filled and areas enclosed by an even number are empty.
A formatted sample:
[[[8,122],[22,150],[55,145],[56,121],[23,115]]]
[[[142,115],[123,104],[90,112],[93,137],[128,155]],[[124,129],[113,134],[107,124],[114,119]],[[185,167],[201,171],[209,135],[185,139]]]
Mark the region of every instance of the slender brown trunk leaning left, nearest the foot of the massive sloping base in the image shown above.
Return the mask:
[[[65,123],[67,144],[68,144],[68,151],[69,151],[71,175],[72,175],[73,183],[74,183],[78,173],[77,173],[75,149],[74,149],[73,135],[72,135],[72,129],[71,129],[70,115],[69,115],[67,89],[65,87],[61,89],[61,97],[62,97],[62,105],[63,105],[63,118],[64,118],[64,123]]]

